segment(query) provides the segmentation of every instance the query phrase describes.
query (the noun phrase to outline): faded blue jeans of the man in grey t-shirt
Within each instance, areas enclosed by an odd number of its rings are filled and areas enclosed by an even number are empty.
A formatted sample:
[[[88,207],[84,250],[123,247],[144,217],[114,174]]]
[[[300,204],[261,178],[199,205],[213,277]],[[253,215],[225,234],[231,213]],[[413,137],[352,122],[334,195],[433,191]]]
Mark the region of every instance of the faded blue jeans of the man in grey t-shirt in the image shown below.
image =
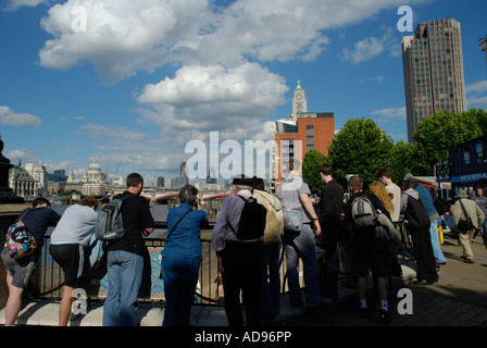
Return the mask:
[[[307,307],[316,307],[321,302],[314,245],[314,233],[308,224],[302,226],[301,233],[294,239],[294,245],[286,245],[287,282],[289,286],[289,303],[291,306],[302,304],[298,274],[299,259],[302,260],[303,264]]]

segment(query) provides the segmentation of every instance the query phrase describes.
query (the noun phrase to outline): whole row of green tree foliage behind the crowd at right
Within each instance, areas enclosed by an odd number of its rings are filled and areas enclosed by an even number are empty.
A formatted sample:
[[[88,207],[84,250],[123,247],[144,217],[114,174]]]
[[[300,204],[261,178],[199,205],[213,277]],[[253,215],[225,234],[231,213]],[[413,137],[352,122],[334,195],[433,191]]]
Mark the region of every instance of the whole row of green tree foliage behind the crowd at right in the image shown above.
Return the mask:
[[[396,145],[371,119],[350,119],[328,148],[328,157],[309,151],[303,159],[303,177],[312,194],[320,191],[319,167],[332,164],[334,178],[347,188],[347,174],[360,175],[366,186],[376,181],[380,167],[388,169],[394,182],[407,173],[429,176],[437,162],[449,158],[449,148],[487,134],[487,112],[471,109],[461,114],[438,111],[424,119],[414,134],[415,144]]]

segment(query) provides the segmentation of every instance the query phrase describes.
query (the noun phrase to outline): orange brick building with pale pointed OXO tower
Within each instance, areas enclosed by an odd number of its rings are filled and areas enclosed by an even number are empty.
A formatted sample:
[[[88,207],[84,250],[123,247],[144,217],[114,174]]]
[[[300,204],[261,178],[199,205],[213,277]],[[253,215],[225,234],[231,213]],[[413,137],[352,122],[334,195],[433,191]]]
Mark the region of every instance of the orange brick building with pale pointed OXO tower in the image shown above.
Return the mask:
[[[290,159],[302,162],[304,153],[316,150],[328,154],[328,147],[335,137],[333,112],[309,112],[305,91],[298,80],[292,95],[292,114],[288,120],[276,121],[274,140],[274,179],[283,181]]]

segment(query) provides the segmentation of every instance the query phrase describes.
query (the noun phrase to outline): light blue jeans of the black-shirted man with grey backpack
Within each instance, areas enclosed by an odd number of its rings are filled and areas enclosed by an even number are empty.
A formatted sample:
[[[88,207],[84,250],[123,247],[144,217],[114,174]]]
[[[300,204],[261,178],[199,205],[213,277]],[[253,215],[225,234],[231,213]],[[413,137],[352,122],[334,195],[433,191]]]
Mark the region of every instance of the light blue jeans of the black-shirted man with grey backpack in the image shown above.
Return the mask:
[[[143,258],[114,250],[108,253],[109,294],[103,304],[103,326],[136,326]]]

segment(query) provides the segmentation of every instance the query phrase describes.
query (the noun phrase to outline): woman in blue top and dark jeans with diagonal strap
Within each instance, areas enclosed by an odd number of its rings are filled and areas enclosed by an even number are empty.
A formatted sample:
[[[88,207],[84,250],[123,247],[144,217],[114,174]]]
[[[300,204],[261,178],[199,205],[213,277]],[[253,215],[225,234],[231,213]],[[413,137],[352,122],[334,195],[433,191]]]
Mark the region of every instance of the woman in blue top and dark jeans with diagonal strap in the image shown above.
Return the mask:
[[[187,326],[202,260],[200,232],[208,215],[200,210],[198,189],[185,185],[179,191],[180,206],[170,209],[167,236],[161,252],[165,310],[163,326]]]

